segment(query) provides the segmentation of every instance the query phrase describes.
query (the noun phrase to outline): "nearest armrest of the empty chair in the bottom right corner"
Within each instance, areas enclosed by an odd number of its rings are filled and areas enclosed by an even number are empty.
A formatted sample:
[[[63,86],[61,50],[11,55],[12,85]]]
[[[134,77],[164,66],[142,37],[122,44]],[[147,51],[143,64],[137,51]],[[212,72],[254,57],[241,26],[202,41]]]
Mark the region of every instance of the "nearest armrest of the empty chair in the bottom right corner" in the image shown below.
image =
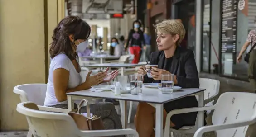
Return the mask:
[[[205,127],[199,128],[195,132],[194,137],[203,137],[204,132],[223,130],[223,129],[228,129],[228,128],[243,127],[243,126],[251,125],[253,123],[255,123],[255,117],[249,121],[242,121],[242,122],[222,124],[222,125],[205,126]]]

